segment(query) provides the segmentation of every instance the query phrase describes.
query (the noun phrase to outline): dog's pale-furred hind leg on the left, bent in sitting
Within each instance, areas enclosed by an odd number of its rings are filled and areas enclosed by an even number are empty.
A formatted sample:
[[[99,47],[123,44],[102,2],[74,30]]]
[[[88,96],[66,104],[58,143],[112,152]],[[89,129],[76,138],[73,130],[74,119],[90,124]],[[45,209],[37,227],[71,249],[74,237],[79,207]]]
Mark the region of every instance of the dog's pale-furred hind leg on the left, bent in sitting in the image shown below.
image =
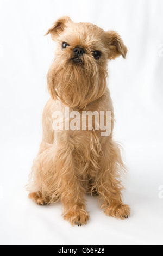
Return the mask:
[[[34,160],[30,182],[27,190],[29,198],[37,204],[49,204],[56,202],[55,196],[55,145],[47,144],[47,147],[40,148],[39,154]]]

